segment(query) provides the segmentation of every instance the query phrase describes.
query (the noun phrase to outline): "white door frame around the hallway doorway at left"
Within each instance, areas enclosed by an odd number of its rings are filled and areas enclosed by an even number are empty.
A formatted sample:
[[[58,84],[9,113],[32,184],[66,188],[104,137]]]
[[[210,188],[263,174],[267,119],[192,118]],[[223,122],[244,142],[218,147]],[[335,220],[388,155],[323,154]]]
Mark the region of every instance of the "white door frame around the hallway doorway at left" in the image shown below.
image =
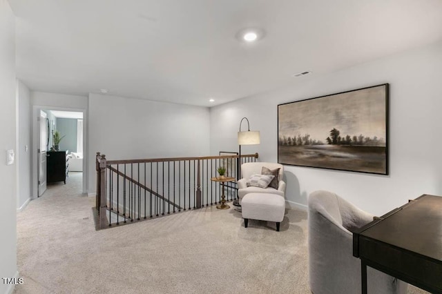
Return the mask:
[[[38,153],[39,148],[39,121],[37,117],[40,115],[40,110],[59,110],[59,111],[74,111],[83,112],[83,189],[82,193],[87,193],[88,190],[88,110],[83,108],[66,108],[56,106],[32,106],[32,199],[38,197]]]

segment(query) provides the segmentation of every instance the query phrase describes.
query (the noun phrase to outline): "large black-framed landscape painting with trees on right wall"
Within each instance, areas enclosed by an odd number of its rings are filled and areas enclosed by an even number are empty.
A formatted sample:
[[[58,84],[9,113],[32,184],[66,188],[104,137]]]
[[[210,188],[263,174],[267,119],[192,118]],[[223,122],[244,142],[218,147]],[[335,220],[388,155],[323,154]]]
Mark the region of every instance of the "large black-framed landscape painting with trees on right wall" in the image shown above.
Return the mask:
[[[278,163],[388,175],[389,84],[278,105]]]

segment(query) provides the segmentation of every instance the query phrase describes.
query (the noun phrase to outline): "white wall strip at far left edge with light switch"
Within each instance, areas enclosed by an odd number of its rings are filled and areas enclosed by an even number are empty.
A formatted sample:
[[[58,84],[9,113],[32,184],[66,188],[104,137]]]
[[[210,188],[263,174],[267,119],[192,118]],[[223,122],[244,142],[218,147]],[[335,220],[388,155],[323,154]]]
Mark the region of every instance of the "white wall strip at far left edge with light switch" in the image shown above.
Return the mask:
[[[6,166],[6,150],[16,150],[15,17],[0,0],[0,277],[17,275],[17,165]],[[0,281],[0,293],[11,285]]]

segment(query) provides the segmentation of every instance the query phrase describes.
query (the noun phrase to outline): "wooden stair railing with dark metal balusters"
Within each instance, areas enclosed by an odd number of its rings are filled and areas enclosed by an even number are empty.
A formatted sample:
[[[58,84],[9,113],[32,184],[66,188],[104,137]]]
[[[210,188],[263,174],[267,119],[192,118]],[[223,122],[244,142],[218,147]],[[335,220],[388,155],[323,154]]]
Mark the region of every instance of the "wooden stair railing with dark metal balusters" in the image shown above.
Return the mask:
[[[226,168],[227,177],[237,178],[237,166],[257,158],[258,153],[107,160],[97,153],[98,226],[107,228],[219,204],[220,183],[211,181],[218,167]],[[236,183],[225,182],[224,188],[227,201],[236,199]]]

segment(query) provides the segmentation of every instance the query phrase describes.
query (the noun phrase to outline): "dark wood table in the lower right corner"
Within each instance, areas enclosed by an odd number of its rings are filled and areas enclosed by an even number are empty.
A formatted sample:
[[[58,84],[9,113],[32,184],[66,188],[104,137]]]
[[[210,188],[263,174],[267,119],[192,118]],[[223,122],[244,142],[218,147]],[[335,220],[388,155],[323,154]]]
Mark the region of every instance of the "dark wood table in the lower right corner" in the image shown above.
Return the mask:
[[[422,195],[353,233],[361,259],[362,293],[367,266],[431,293],[442,293],[442,197]]]

